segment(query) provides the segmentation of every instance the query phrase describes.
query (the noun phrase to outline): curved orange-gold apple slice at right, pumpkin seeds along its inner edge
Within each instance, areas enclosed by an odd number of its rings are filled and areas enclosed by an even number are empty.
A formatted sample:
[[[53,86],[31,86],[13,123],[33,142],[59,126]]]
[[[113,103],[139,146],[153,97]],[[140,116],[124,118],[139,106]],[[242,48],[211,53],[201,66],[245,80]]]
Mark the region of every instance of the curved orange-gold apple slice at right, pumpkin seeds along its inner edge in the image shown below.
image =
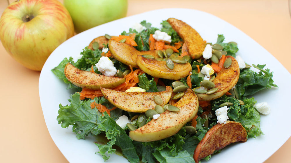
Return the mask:
[[[226,56],[226,58],[232,60],[230,67],[223,67],[213,81],[218,90],[214,94],[197,94],[199,101],[217,99],[236,85],[239,79],[239,65],[234,57]]]

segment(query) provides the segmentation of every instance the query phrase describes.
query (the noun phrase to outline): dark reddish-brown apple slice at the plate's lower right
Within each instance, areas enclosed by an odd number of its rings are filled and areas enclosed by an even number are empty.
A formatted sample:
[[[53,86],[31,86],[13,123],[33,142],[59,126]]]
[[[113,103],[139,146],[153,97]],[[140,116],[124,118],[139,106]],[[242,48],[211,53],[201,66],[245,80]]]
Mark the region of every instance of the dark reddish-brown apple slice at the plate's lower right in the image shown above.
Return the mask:
[[[195,162],[198,163],[199,160],[230,143],[246,142],[246,135],[246,129],[239,122],[226,121],[225,124],[214,125],[198,143],[193,156]]]

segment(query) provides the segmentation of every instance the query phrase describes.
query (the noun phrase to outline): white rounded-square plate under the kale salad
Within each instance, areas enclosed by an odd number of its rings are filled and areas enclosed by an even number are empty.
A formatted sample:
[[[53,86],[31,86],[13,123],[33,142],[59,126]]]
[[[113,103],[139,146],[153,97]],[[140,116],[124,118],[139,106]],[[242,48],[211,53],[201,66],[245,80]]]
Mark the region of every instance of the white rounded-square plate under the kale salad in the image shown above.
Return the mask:
[[[128,32],[134,23],[143,20],[152,23],[152,27],[160,28],[162,20],[170,17],[191,25],[207,42],[215,43],[218,34],[223,34],[226,42],[237,42],[237,55],[242,56],[249,64],[267,64],[274,72],[274,83],[279,87],[255,95],[257,102],[267,101],[271,106],[271,113],[261,116],[261,129],[265,135],[227,147],[212,156],[208,162],[233,162],[230,157],[239,158],[235,159],[235,162],[264,162],[290,137],[291,130],[286,126],[290,123],[287,117],[291,115],[291,103],[288,102],[290,97],[287,94],[290,92],[288,81],[291,81],[291,75],[276,58],[242,31],[211,14],[189,9],[162,9],[112,21],[77,34],[57,47],[47,59],[39,79],[40,102],[49,133],[69,162],[103,162],[103,159],[99,154],[95,154],[98,147],[93,143],[94,138],[78,140],[71,128],[64,129],[58,124],[58,105],[69,104],[68,98],[72,92],[66,89],[67,85],[59,80],[51,69],[63,58],[79,55],[79,52],[97,36]],[[108,162],[117,161],[127,162],[124,157],[118,155],[111,155]]]

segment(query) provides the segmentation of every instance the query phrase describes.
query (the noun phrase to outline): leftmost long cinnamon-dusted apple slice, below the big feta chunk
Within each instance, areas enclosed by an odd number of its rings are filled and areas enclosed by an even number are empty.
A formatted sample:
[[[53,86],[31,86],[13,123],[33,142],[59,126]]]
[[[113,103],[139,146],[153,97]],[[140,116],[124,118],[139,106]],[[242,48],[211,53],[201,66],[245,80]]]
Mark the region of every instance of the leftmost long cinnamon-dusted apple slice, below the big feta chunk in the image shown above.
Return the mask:
[[[73,66],[71,63],[68,63],[65,66],[64,72],[66,78],[74,85],[93,90],[99,90],[100,87],[115,88],[125,82],[125,78],[109,77],[89,71],[80,70]]]

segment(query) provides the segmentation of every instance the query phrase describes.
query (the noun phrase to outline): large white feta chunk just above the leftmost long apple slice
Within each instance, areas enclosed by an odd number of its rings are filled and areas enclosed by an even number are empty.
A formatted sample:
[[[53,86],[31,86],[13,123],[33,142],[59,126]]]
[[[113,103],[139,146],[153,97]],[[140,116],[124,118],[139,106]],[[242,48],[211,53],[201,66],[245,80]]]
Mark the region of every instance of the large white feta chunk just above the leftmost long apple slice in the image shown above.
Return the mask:
[[[98,71],[100,71],[105,76],[113,77],[116,74],[116,68],[113,62],[106,56],[102,56],[98,63],[96,63]]]

